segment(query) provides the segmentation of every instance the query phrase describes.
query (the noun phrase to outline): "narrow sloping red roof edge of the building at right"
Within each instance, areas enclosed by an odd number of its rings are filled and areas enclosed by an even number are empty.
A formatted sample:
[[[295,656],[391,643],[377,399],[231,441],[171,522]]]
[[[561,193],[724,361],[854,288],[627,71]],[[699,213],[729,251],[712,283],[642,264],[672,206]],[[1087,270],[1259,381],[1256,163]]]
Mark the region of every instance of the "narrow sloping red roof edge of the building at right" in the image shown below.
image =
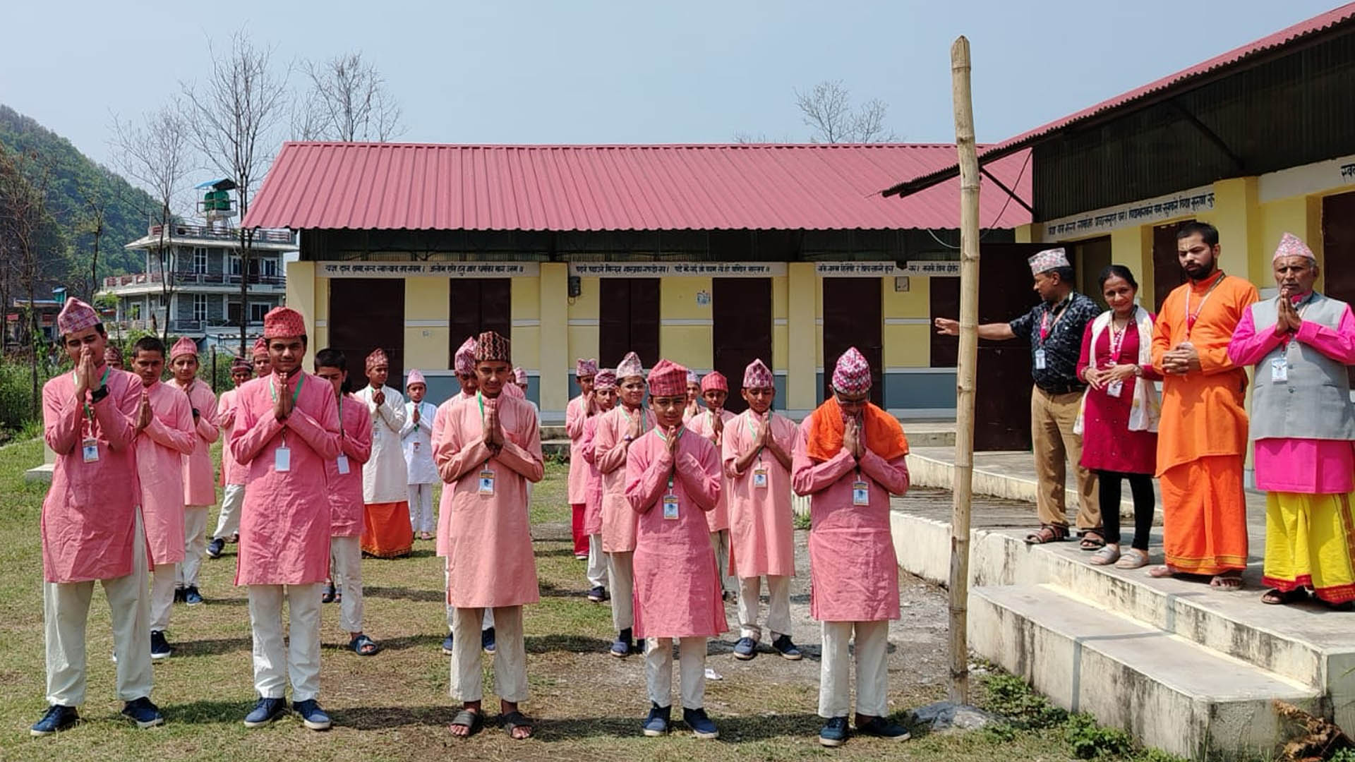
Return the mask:
[[[1115,98],[1111,98],[1111,99],[1107,99],[1107,100],[1102,100],[1100,103],[1098,103],[1095,106],[1083,108],[1081,111],[1077,111],[1076,114],[1064,117],[1062,119],[1056,119],[1056,121],[1053,121],[1053,122],[1050,122],[1047,125],[1042,125],[1039,127],[1035,127],[1034,130],[1022,133],[1022,134],[1019,134],[1019,136],[1016,136],[1014,138],[1008,138],[1008,140],[1004,140],[1004,141],[1001,141],[999,144],[989,145],[989,146],[986,146],[986,148],[984,148],[984,149],[981,149],[978,152],[978,157],[984,159],[985,156],[997,156],[997,155],[1003,155],[1003,153],[1011,153],[1012,151],[1019,149],[1019,148],[1027,148],[1028,144],[1031,144],[1031,142],[1035,141],[1035,138],[1043,137],[1043,136],[1046,136],[1049,133],[1058,132],[1058,130],[1061,130],[1064,127],[1068,127],[1070,125],[1081,122],[1083,119],[1088,119],[1091,117],[1095,117],[1098,114],[1103,114],[1106,111],[1111,111],[1111,110],[1119,108],[1119,107],[1126,106],[1129,103],[1133,103],[1133,102],[1135,102],[1135,100],[1138,100],[1141,98],[1145,98],[1145,96],[1152,95],[1154,92],[1159,92],[1159,91],[1167,89],[1169,87],[1186,83],[1187,80],[1191,80],[1191,79],[1207,75],[1207,73],[1214,72],[1217,69],[1224,69],[1224,68],[1228,68],[1228,66],[1232,66],[1232,65],[1236,65],[1236,64],[1241,64],[1243,61],[1245,61],[1245,60],[1248,60],[1248,58],[1251,58],[1253,56],[1257,56],[1260,53],[1266,53],[1266,52],[1276,49],[1276,47],[1283,47],[1286,45],[1297,42],[1297,41],[1299,41],[1299,39],[1302,39],[1302,38],[1305,38],[1308,35],[1320,33],[1320,31],[1327,30],[1327,28],[1329,28],[1332,26],[1336,26],[1336,24],[1340,24],[1343,22],[1347,22],[1347,20],[1350,20],[1352,18],[1355,18],[1355,3],[1347,3],[1346,5],[1341,5],[1340,8],[1335,8],[1332,11],[1327,11],[1325,14],[1313,16],[1312,19],[1308,19],[1305,22],[1299,22],[1299,23],[1297,23],[1297,24],[1294,24],[1291,27],[1287,27],[1287,28],[1283,28],[1283,30],[1276,31],[1274,34],[1270,34],[1267,37],[1263,37],[1263,38],[1260,38],[1260,39],[1257,39],[1255,42],[1249,42],[1247,45],[1243,45],[1241,47],[1234,47],[1234,49],[1229,50],[1228,53],[1222,53],[1220,56],[1214,56],[1209,61],[1205,61],[1202,64],[1196,64],[1196,65],[1194,65],[1194,66],[1191,66],[1188,69],[1183,69],[1180,72],[1176,72],[1175,75],[1168,75],[1168,76],[1165,76],[1165,77],[1163,77],[1160,80],[1154,80],[1154,81],[1148,83],[1148,84],[1145,84],[1142,87],[1134,88],[1134,89],[1131,89],[1129,92],[1117,95]],[[892,195],[892,194],[897,194],[897,193],[913,191],[915,188],[919,188],[919,187],[927,188],[927,187],[930,187],[935,182],[940,182],[940,180],[944,180],[944,179],[948,179],[948,178],[954,178],[958,174],[959,174],[959,167],[954,161],[951,161],[946,167],[940,167],[940,168],[936,168],[936,169],[923,171],[923,172],[916,174],[916,175],[909,175],[911,179],[908,179],[908,180],[905,180],[902,183],[897,183],[897,184],[886,188],[883,193],[885,193],[885,195]],[[925,193],[925,191],[917,191],[917,193]]]

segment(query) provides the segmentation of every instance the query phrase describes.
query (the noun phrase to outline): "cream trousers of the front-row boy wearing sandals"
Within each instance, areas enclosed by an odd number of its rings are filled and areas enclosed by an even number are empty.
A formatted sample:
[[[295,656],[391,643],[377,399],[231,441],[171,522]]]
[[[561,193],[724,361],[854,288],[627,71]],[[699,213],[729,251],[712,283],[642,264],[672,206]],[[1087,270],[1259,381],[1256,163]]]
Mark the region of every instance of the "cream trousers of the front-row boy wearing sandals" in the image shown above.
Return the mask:
[[[482,701],[484,649],[480,628],[484,609],[457,609],[451,621],[451,697],[457,701]],[[522,636],[522,606],[495,609],[495,693],[514,704],[527,700],[527,644]]]

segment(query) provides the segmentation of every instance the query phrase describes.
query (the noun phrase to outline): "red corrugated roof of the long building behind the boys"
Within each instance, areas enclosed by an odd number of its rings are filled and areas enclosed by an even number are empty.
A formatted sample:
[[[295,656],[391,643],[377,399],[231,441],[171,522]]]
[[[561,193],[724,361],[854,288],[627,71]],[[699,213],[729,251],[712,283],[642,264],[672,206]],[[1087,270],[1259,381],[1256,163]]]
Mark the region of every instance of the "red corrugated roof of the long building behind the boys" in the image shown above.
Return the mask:
[[[989,167],[1030,198],[1024,156]],[[959,190],[889,201],[953,145],[425,145],[287,142],[245,226],[465,230],[958,228]],[[1030,213],[986,178],[980,220]]]

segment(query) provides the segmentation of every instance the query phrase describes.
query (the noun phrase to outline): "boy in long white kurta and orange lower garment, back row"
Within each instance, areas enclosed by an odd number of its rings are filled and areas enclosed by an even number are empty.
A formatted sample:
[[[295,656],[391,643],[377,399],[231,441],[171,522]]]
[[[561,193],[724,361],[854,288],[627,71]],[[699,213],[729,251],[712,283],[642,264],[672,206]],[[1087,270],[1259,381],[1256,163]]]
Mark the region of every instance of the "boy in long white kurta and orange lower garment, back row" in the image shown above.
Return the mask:
[[[415,545],[409,525],[409,472],[400,443],[405,426],[405,399],[386,386],[390,361],[385,350],[367,355],[367,385],[354,393],[371,412],[371,460],[362,469],[362,552],[378,559],[400,559]]]

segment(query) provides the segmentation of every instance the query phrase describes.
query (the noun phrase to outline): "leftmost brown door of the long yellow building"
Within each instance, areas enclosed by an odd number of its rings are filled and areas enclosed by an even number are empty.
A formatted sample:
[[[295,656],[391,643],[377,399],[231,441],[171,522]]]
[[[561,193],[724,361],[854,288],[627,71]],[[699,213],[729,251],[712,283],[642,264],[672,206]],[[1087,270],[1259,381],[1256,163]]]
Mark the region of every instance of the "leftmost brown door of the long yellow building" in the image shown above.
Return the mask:
[[[381,347],[390,359],[388,385],[404,385],[405,282],[401,278],[331,278],[329,346],[348,361],[354,389],[367,385],[366,359]],[[324,347],[318,347],[324,348]],[[309,369],[308,369],[309,370]]]

